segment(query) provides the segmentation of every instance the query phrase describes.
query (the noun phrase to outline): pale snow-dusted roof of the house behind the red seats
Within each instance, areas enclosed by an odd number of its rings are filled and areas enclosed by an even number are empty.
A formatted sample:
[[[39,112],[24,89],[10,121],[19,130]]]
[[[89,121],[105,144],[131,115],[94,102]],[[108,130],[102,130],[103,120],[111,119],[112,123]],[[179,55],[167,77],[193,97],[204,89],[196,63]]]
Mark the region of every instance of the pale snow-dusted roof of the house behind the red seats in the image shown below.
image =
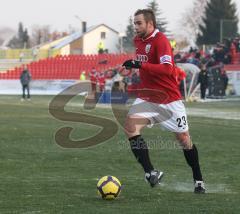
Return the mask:
[[[91,31],[97,29],[100,26],[105,26],[106,28],[109,28],[111,31],[119,34],[119,32],[114,30],[113,28],[111,28],[111,27],[109,27],[109,26],[107,26],[105,24],[99,24],[99,25],[95,25],[95,26],[89,27],[85,33],[82,33],[80,31],[78,31],[78,32],[75,32],[75,33],[67,36],[63,41],[60,41],[58,44],[52,46],[52,48],[60,49],[60,48],[62,48],[64,46],[68,45],[69,43],[71,43],[71,42],[81,38],[82,36],[85,36],[86,34],[90,33]]]

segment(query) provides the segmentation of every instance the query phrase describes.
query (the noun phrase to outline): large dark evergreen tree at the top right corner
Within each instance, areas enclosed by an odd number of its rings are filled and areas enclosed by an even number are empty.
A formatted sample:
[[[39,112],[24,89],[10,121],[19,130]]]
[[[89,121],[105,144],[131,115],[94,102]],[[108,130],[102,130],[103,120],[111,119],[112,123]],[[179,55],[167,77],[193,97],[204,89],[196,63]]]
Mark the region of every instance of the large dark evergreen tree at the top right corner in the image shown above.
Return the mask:
[[[224,37],[237,35],[237,8],[232,0],[210,0],[205,13],[203,24],[199,26],[198,44],[216,44]]]

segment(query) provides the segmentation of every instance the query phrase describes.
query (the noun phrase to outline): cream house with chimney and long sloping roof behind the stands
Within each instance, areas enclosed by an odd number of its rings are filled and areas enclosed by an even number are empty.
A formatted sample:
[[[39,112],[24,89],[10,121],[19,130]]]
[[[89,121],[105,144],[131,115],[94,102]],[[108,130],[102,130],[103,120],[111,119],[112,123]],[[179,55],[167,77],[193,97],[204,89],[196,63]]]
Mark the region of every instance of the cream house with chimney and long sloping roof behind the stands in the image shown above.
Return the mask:
[[[99,24],[82,32],[75,32],[59,40],[45,44],[41,49],[59,50],[61,55],[97,54],[99,44],[108,53],[119,53],[119,33],[105,24]]]

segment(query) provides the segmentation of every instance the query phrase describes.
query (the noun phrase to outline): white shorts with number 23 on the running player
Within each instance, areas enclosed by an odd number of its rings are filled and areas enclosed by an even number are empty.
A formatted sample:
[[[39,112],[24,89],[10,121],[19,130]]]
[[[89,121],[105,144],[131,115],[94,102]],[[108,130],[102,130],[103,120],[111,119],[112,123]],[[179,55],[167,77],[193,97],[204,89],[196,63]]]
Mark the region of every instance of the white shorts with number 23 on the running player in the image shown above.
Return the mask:
[[[181,100],[168,104],[157,104],[137,98],[128,115],[149,119],[150,125],[148,127],[160,124],[161,127],[171,132],[182,133],[188,131],[186,110]]]

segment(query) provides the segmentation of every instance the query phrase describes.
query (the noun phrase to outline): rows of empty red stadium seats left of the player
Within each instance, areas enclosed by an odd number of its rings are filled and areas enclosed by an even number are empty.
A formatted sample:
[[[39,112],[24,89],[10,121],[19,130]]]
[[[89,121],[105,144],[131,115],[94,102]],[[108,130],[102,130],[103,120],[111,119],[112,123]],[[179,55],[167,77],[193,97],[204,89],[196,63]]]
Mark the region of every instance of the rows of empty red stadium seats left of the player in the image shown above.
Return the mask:
[[[109,70],[121,65],[126,59],[134,58],[134,54],[90,54],[56,56],[32,62],[28,65],[33,79],[76,79],[80,72]],[[101,63],[102,62],[102,63]],[[1,79],[19,79],[22,67],[16,67],[7,73],[0,73]]]

